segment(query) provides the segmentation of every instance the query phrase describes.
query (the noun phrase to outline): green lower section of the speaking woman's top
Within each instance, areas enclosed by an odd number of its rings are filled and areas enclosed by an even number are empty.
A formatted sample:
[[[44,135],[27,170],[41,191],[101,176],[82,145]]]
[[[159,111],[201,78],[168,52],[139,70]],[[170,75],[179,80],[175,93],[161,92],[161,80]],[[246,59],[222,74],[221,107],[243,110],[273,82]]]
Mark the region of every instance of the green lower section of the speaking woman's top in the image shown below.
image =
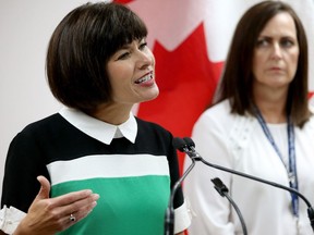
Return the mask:
[[[92,178],[59,184],[52,197],[89,188],[100,195],[93,212],[62,235],[161,235],[169,176]]]

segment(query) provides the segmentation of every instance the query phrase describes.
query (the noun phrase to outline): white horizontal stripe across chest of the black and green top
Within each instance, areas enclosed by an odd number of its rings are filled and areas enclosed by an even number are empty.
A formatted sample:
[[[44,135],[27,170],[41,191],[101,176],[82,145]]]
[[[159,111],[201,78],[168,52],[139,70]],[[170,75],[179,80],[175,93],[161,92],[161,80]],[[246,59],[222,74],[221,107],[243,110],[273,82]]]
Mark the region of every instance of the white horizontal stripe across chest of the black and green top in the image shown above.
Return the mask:
[[[94,177],[169,175],[167,157],[152,154],[98,154],[47,165],[51,185]]]

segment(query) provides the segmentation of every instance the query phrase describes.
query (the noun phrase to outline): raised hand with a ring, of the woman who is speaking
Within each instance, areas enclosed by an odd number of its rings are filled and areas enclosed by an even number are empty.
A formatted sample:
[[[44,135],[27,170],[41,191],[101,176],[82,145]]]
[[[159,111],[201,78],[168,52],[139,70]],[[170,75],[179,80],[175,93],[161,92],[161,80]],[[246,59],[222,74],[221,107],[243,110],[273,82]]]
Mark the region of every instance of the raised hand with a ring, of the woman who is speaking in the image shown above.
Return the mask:
[[[97,205],[99,195],[89,189],[49,198],[49,181],[44,176],[38,176],[37,180],[41,185],[39,193],[14,235],[56,234],[84,219]]]

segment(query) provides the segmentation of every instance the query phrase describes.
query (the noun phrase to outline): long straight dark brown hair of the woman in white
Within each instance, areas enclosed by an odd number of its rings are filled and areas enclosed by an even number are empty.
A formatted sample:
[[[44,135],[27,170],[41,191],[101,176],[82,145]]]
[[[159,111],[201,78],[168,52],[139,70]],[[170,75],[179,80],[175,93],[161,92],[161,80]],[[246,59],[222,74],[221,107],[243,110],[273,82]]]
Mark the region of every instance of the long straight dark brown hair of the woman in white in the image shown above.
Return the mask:
[[[287,12],[294,21],[299,42],[299,61],[295,76],[289,85],[286,111],[300,127],[309,120],[307,40],[304,27],[292,10],[281,1],[263,1],[249,9],[235,27],[226,60],[216,103],[230,99],[231,112],[244,115],[253,110],[253,55],[257,38],[265,25],[278,13]]]

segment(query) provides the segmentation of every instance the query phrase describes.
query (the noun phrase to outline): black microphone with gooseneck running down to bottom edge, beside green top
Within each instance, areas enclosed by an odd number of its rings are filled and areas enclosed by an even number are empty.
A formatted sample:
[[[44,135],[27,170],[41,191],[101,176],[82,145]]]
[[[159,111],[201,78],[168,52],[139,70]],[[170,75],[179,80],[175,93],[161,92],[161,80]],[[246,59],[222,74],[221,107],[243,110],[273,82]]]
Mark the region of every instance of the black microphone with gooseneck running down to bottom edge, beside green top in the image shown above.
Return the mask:
[[[179,149],[182,152],[189,151],[186,143],[182,138],[173,138],[172,145],[176,149]],[[173,199],[174,195],[178,190],[178,188],[181,186],[184,178],[188,176],[188,174],[192,171],[192,169],[195,165],[195,160],[191,159],[192,163],[186,169],[186,171],[183,173],[183,175],[176,182],[176,184],[172,187],[171,195],[169,198],[168,207],[165,213],[165,235],[173,235],[174,234],[174,209],[173,209]]]

